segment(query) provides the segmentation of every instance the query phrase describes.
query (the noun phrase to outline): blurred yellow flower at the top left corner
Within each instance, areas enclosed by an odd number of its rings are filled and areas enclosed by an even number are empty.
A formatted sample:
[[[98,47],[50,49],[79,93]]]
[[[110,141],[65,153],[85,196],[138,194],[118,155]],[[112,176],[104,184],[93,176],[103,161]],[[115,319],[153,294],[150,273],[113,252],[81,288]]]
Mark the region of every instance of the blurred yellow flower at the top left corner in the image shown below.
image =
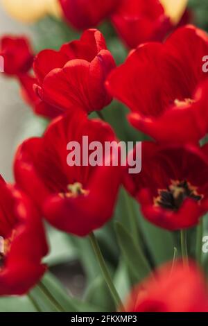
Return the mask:
[[[47,14],[61,15],[58,0],[1,0],[1,4],[8,15],[24,23],[35,22]]]

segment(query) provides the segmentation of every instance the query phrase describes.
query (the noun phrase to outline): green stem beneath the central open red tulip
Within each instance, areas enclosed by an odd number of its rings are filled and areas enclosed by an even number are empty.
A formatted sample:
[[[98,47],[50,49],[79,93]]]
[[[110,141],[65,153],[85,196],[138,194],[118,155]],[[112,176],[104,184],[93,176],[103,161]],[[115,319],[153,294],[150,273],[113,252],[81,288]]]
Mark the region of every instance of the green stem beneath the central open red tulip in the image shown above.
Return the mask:
[[[103,273],[103,277],[105,278],[105,282],[107,283],[107,286],[108,288],[110,289],[110,293],[112,294],[112,298],[114,299],[114,302],[116,304],[116,307],[118,309],[121,309],[122,311],[125,311],[124,310],[124,307],[123,307],[123,303],[119,297],[119,293],[116,291],[116,288],[112,282],[112,278],[110,276],[110,273],[109,271],[107,270],[107,266],[105,264],[105,260],[103,258],[103,255],[102,255],[102,252],[101,252],[101,249],[98,245],[98,241],[94,235],[94,233],[92,232],[91,234],[89,234],[89,239],[90,239],[90,242],[92,244],[92,248],[94,249],[94,252],[95,252],[95,255],[96,255],[96,258],[98,259],[98,263],[101,267],[101,271]]]

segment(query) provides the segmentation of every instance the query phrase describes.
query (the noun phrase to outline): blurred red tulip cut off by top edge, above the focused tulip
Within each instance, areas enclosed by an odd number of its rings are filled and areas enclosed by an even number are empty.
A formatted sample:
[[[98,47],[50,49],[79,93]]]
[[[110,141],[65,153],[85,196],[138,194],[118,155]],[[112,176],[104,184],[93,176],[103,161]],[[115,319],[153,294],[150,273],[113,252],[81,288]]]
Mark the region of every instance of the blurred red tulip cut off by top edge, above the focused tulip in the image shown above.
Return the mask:
[[[64,16],[78,29],[95,27],[109,17],[121,0],[60,0]]]

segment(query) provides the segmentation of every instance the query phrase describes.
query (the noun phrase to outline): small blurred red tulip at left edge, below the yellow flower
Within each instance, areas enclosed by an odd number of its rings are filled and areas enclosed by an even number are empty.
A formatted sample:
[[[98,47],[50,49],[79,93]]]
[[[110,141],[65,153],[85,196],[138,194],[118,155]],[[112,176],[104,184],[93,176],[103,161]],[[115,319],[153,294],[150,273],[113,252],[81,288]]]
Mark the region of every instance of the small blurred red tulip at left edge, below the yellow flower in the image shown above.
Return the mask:
[[[26,37],[1,37],[0,55],[4,59],[4,72],[8,76],[25,74],[33,65],[33,51]]]

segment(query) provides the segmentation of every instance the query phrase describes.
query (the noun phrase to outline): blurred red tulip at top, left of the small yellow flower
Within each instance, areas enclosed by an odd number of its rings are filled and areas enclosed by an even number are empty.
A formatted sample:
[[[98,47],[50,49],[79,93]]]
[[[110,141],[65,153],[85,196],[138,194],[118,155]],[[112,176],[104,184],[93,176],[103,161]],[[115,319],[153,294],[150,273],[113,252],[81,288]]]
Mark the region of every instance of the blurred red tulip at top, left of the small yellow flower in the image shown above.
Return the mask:
[[[173,28],[159,0],[121,0],[112,23],[130,48],[148,41],[162,41]]]

